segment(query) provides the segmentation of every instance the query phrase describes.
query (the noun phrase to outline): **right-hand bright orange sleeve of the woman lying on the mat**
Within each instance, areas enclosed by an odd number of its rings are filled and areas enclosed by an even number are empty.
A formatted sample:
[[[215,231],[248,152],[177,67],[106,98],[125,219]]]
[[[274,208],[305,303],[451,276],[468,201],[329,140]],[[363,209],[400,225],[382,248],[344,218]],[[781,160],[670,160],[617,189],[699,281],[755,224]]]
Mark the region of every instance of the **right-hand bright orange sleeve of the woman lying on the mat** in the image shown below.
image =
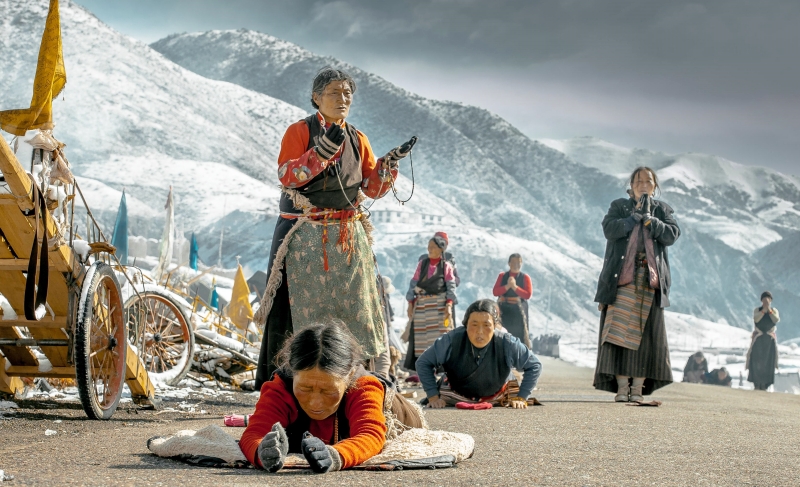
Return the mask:
[[[372,376],[356,381],[347,393],[345,414],[350,422],[350,438],[333,445],[342,458],[342,468],[360,465],[374,457],[386,443],[386,417],[383,415],[384,391]]]

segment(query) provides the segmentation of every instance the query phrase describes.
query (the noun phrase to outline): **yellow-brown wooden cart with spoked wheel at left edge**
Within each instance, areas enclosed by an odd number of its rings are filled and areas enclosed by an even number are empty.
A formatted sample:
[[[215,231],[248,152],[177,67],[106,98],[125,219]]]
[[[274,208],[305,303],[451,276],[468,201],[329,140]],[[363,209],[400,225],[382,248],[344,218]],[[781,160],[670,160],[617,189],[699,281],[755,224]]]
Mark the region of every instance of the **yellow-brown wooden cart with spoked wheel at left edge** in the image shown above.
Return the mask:
[[[84,236],[91,251],[81,255],[74,249],[77,183],[72,185],[65,237],[52,218],[44,218],[49,215],[46,207],[40,208],[37,219],[33,180],[2,137],[0,172],[5,189],[0,191],[0,294],[17,314],[13,320],[0,319],[0,392],[18,392],[19,377],[75,378],[83,409],[92,419],[113,415],[123,384],[128,385],[134,402],[154,405],[154,388],[142,352],[129,342],[123,313],[117,276],[128,278],[128,274],[93,219],[96,228],[90,229],[87,223],[89,235]],[[88,206],[87,212],[91,215]],[[37,226],[48,246],[48,259],[42,266],[48,266],[49,286],[47,313],[31,320],[24,318],[25,289]],[[42,363],[43,356],[52,367]]]

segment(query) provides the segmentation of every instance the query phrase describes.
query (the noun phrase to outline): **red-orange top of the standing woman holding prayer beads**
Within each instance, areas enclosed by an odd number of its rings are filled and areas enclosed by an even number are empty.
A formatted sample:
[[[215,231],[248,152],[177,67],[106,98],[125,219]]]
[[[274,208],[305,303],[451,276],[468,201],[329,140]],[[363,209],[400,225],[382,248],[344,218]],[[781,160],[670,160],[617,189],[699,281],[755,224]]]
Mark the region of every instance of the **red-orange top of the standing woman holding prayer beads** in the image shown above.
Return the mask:
[[[321,125],[325,125],[325,120],[317,112],[317,117]],[[378,171],[381,168],[383,158],[378,161],[375,160],[375,153],[372,152],[372,146],[367,140],[367,136],[356,130],[358,133],[358,147],[359,155],[361,156],[361,176],[363,182],[361,183],[361,190],[367,197],[378,199],[389,192],[391,184],[388,182],[381,183]],[[323,161],[317,156],[317,152],[308,147],[308,124],[305,120],[293,123],[286,129],[281,141],[281,152],[278,154],[278,179],[281,184],[287,188],[301,188],[310,183],[314,177],[325,169],[327,161]],[[341,154],[342,149],[333,156],[336,159]],[[305,171],[296,172],[295,169],[305,168],[308,171],[307,176],[301,181],[297,179],[295,174],[305,174]],[[397,169],[392,169],[392,177],[397,177]]]

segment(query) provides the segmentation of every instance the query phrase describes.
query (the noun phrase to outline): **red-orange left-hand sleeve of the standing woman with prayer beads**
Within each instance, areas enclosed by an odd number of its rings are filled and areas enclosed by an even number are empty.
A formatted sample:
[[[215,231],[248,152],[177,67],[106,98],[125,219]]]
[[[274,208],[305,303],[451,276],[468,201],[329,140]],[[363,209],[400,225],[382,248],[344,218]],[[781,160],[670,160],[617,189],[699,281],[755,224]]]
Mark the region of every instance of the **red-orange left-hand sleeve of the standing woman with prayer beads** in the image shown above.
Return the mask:
[[[308,125],[305,120],[286,129],[278,154],[278,179],[287,188],[300,188],[325,169],[325,162],[313,148],[308,147]]]

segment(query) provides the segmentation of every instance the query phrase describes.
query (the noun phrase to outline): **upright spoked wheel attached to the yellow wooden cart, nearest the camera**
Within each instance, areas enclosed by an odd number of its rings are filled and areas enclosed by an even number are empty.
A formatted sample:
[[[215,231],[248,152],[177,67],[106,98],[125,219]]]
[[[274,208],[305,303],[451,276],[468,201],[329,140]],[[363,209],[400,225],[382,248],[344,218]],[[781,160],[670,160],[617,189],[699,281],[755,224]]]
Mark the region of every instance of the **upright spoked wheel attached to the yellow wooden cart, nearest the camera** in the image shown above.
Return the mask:
[[[95,262],[83,281],[75,326],[75,380],[91,419],[109,419],[117,410],[126,339],[119,282],[111,267]]]

